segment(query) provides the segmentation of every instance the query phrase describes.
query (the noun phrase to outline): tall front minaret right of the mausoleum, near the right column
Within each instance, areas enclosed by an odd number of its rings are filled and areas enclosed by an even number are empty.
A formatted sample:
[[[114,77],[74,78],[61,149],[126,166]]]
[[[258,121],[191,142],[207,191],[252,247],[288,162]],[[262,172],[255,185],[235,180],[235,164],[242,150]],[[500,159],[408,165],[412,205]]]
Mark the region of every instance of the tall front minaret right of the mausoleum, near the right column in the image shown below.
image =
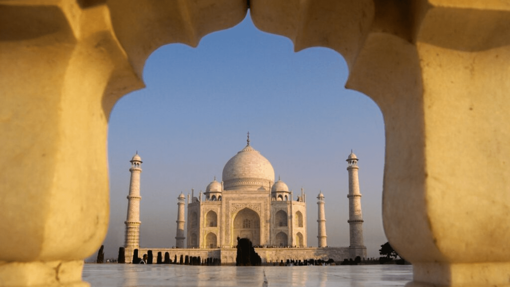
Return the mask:
[[[358,158],[352,152],[347,158],[349,171],[349,243],[350,247],[364,247],[363,216],[361,214],[360,181],[358,179]]]

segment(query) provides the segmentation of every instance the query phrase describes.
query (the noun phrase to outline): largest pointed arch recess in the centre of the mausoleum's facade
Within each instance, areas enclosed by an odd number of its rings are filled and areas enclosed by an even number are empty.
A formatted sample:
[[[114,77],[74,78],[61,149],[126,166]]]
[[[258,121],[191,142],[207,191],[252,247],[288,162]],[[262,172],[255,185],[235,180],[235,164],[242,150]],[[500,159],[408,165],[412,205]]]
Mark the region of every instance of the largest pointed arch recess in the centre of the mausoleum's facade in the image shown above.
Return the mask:
[[[247,238],[253,245],[260,245],[260,217],[259,215],[244,208],[234,218],[234,232],[232,242],[237,244],[237,238]]]

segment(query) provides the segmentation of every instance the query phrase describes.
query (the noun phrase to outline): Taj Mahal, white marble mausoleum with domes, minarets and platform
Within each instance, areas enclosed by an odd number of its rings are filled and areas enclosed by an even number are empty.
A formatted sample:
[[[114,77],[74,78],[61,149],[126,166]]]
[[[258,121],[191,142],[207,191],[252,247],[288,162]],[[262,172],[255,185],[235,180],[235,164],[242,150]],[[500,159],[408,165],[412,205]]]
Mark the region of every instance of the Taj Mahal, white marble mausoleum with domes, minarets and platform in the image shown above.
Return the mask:
[[[140,174],[138,152],[131,162],[131,182],[125,221],[124,252],[131,262],[135,249],[140,256],[149,250],[180,255],[213,257],[223,264],[235,262],[237,240],[249,239],[263,262],[286,259],[329,259],[336,261],[366,257],[363,241],[363,216],[358,180],[358,158],[351,151],[347,158],[349,175],[348,247],[327,246],[325,197],[317,196],[318,247],[308,247],[307,196],[301,188],[295,196],[275,174],[271,163],[250,145],[227,161],[221,182],[216,178],[205,192],[177,197],[177,230],[173,248],[140,247]],[[187,210],[187,212],[186,212]],[[185,226],[186,231],[185,231]]]

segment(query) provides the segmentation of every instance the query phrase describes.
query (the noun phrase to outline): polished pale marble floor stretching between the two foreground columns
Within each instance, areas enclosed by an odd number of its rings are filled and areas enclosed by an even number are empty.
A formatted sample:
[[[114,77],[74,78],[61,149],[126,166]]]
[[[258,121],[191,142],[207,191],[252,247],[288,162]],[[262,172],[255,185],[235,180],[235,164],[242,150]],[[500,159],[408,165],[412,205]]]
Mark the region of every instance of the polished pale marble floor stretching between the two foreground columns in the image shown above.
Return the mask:
[[[404,286],[411,265],[235,267],[185,265],[85,264],[91,287],[153,286]]]

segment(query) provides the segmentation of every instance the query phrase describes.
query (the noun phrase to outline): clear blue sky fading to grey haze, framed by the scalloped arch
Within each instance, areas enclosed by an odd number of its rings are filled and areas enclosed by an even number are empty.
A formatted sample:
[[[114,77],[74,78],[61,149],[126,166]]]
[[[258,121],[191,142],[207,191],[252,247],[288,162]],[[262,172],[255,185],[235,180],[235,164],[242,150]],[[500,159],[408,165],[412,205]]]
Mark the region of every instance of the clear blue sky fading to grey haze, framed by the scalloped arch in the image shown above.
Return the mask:
[[[169,44],[145,63],[146,88],[121,98],[110,118],[111,215],[105,257],[123,245],[130,160],[142,158],[142,247],[175,245],[177,196],[205,191],[225,163],[250,144],[273,165],[294,200],[307,194],[308,245],[317,246],[317,194],[325,196],[328,246],[348,246],[348,173],[358,155],[368,256],[382,230],[384,122],[366,95],[344,88],[348,70],[336,51],[308,48],[254,27],[203,37],[196,48]]]

